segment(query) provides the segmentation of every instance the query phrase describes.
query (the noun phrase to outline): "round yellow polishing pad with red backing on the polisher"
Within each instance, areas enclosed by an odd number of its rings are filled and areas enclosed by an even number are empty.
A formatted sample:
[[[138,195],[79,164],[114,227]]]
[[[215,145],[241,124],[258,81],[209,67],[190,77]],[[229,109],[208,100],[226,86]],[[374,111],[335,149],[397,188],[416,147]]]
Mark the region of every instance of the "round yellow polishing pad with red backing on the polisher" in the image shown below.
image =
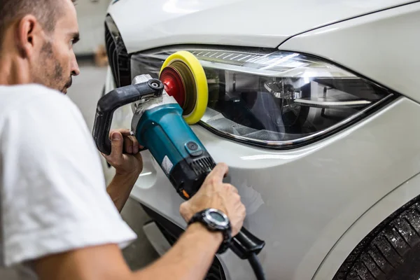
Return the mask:
[[[162,72],[170,72],[169,76],[179,76],[181,80],[179,83],[176,83],[175,80],[169,85],[169,83],[165,83],[165,80],[162,80]],[[168,73],[165,73],[165,75],[168,76]],[[176,92],[179,97],[177,101],[180,102],[179,100],[181,100],[182,104],[180,105],[183,109],[183,118],[186,120],[186,123],[188,125],[198,123],[207,109],[209,87],[206,73],[204,73],[204,69],[197,57],[185,50],[175,52],[163,63],[160,69],[160,78],[165,86],[176,87],[176,90],[178,90]]]

